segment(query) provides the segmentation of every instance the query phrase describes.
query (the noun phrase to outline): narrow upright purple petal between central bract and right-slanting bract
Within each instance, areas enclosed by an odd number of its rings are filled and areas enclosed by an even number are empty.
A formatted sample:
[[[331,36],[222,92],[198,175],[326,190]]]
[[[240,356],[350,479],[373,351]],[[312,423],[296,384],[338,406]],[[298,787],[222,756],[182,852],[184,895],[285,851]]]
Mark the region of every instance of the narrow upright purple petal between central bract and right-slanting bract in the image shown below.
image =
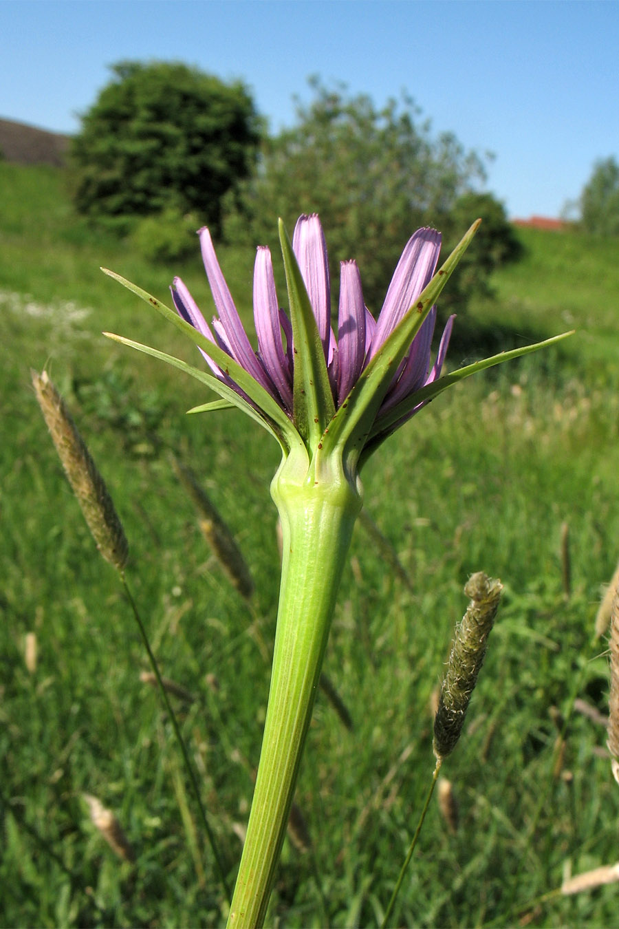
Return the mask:
[[[366,357],[366,305],[355,261],[342,261],[338,315],[338,397],[355,386]]]

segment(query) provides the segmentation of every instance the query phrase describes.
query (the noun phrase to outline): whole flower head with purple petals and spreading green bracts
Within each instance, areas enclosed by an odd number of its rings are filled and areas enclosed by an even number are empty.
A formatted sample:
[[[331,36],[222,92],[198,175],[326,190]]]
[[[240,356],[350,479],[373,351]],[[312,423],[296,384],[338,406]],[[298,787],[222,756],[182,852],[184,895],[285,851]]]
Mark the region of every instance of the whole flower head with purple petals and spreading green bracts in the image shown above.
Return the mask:
[[[435,229],[418,229],[406,243],[377,320],[365,306],[355,262],[343,262],[336,339],[330,325],[329,263],[320,221],[317,216],[301,216],[290,242],[280,220],[290,316],[278,305],[271,255],[267,248],[259,248],[253,276],[257,351],[240,321],[209,230],[200,229],[202,257],[218,313],[212,327],[180,278],[174,278],[172,309],[120,274],[102,270],[188,336],[210,370],[122,335],[106,335],[172,364],[219,394],[220,399],[189,412],[238,407],[247,413],[277,440],[282,464],[294,451],[289,470],[295,475],[311,463],[316,473],[320,471],[320,479],[327,467],[343,469],[343,478],[354,481],[382,442],[448,387],[570,334],[500,352],[440,377],[451,317],[431,367],[436,300],[480,222],[472,224],[435,273],[441,235]]]

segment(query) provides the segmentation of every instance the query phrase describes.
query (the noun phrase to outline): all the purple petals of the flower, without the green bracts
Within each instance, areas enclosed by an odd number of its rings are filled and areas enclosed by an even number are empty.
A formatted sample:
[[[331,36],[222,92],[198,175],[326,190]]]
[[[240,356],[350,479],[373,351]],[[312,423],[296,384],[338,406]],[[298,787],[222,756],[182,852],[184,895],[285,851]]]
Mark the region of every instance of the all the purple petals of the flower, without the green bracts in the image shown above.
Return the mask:
[[[174,307],[182,319],[189,322],[210,342],[224,349],[230,358],[251,374],[294,423],[295,349],[292,325],[289,316],[280,309],[277,301],[269,249],[264,246],[258,248],[253,273],[253,318],[258,337],[258,351],[255,352],[219,267],[209,229],[200,229],[199,235],[204,268],[218,313],[213,319],[213,329],[204,320],[200,308],[178,277],[174,278],[174,286],[171,287]],[[316,214],[299,217],[292,237],[292,251],[316,320],[335,410],[342,406],[368,362],[376,356],[410,307],[414,306],[419,294],[432,280],[440,250],[441,234],[435,229],[418,229],[411,236],[395,268],[377,320],[365,305],[361,275],[356,262],[342,261],[336,340],[330,324],[329,260],[322,226]],[[382,399],[376,424],[380,425],[381,416],[392,410],[396,404],[439,377],[454,317],[447,321],[436,360],[431,368],[431,343],[435,320],[436,307],[432,307],[413,338],[405,358],[393,374]],[[222,367],[211,360],[204,350],[200,350],[213,374],[240,396],[245,397],[244,391]],[[396,425],[410,418],[424,402],[427,400],[420,401],[398,420]]]

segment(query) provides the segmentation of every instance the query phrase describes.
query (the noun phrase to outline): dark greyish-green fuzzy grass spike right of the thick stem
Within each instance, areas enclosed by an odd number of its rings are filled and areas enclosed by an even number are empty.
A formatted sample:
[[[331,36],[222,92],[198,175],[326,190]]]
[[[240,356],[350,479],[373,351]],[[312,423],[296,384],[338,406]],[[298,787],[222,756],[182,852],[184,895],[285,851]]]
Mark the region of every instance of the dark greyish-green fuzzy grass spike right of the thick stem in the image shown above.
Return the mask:
[[[502,583],[488,578],[483,571],[472,574],[464,588],[471,603],[454,635],[434,718],[433,749],[437,758],[453,752],[460,738],[502,591]]]

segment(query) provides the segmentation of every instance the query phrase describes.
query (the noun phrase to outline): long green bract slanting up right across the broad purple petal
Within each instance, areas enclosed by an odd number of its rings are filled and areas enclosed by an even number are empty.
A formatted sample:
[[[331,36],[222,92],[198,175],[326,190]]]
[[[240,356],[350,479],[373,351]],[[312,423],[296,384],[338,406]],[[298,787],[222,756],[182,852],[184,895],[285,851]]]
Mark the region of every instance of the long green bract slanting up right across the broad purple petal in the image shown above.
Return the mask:
[[[407,311],[404,319],[396,326],[368,367],[363,371],[348,397],[343,401],[333,421],[329,423],[329,434],[322,438],[325,451],[352,442],[349,451],[359,455],[371,435],[370,430],[380,404],[393,380],[400,361],[405,357],[423,321],[428,316],[438,295],[445,287],[458,261],[468,248],[481,220],[478,219],[463,236],[442,268],[419,294],[419,299]]]

